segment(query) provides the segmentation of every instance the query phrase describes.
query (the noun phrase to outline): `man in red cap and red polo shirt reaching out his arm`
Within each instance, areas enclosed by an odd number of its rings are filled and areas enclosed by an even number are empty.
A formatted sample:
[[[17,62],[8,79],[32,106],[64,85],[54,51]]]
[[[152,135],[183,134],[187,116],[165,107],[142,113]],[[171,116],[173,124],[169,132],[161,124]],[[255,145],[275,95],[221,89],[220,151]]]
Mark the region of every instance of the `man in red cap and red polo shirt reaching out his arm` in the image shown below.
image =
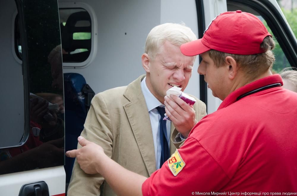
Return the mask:
[[[201,55],[198,73],[223,102],[149,178],[84,138],[67,156],[101,173],[119,195],[296,195],[297,94],[271,74],[273,48],[263,23],[240,10],[220,14],[203,38],[181,45],[184,55]]]

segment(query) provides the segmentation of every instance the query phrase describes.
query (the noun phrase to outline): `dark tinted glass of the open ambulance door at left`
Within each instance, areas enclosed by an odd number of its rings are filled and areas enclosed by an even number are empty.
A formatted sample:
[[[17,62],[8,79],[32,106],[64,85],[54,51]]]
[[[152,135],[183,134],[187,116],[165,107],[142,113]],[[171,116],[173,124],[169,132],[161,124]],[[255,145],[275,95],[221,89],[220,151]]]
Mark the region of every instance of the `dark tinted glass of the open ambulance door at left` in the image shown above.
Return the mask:
[[[22,66],[9,52],[12,14],[0,10],[10,26],[1,45],[0,174],[64,165],[64,95],[62,49],[57,1],[17,1]],[[7,3],[9,2],[9,3]],[[12,1],[12,3],[14,3]],[[14,4],[15,6],[15,4]],[[7,17],[10,16],[10,20]],[[5,65],[5,66],[4,66]],[[10,66],[7,66],[10,65]],[[2,77],[3,76],[3,77]]]

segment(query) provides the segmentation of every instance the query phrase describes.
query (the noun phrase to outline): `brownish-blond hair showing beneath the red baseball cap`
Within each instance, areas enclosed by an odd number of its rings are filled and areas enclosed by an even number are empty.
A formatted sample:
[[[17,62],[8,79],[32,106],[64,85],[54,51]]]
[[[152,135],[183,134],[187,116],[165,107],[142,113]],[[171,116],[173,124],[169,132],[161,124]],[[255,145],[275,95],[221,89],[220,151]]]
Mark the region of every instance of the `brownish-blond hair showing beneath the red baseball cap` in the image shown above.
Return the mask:
[[[275,57],[272,50],[275,47],[275,42],[271,36],[267,36],[263,39],[260,48],[265,51],[260,54],[229,54],[225,52],[219,52],[217,50],[210,50],[209,57],[214,61],[217,67],[225,65],[225,58],[227,56],[233,57],[239,66],[239,69],[247,75],[249,79],[255,79],[261,74],[265,73],[268,69],[271,69]]]

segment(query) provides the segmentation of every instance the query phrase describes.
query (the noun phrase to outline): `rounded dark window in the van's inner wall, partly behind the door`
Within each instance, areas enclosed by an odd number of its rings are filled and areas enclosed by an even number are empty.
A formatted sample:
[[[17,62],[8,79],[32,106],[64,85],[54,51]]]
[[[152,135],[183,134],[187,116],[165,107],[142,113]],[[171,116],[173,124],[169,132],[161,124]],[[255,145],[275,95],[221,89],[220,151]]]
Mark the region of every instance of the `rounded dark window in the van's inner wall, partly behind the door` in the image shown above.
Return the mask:
[[[59,18],[64,65],[66,67],[85,66],[92,51],[92,23],[89,12],[83,8],[60,8]],[[15,57],[21,63],[22,48],[18,15],[15,17],[14,24]]]

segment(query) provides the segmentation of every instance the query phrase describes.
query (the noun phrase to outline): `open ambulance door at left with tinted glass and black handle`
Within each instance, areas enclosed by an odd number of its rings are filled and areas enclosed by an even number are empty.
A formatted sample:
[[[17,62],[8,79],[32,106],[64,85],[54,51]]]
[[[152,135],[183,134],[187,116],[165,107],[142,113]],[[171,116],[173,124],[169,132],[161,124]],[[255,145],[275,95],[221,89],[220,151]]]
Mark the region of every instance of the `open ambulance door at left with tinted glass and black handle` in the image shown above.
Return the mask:
[[[0,195],[65,195],[58,2],[0,2]]]

